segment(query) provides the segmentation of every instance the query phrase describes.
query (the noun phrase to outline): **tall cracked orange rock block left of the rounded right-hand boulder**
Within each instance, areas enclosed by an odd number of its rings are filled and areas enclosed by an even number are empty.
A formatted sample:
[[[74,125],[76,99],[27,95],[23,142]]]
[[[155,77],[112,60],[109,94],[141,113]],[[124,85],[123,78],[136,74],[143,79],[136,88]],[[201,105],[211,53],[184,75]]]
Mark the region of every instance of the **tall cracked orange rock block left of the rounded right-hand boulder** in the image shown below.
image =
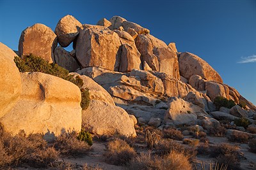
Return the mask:
[[[141,53],[141,62],[147,62],[153,71],[180,79],[177,54],[163,41],[149,34],[140,34],[136,38],[136,46]]]

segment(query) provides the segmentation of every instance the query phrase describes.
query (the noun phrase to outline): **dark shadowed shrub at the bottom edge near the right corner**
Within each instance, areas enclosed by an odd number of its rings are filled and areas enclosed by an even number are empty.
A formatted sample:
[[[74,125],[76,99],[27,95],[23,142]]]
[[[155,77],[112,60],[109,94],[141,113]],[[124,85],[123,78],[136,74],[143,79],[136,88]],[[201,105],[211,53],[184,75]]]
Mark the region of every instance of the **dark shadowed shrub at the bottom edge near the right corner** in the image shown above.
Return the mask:
[[[238,146],[221,143],[211,148],[211,155],[216,157],[219,164],[227,165],[228,169],[238,169],[240,167]]]

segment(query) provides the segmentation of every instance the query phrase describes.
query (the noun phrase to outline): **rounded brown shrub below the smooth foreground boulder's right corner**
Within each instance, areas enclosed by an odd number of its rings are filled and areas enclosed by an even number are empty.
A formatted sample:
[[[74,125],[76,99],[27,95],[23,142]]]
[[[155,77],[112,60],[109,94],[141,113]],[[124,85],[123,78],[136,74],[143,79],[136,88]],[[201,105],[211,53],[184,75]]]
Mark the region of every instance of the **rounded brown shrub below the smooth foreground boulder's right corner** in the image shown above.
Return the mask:
[[[54,148],[56,148],[61,155],[72,156],[86,154],[91,149],[87,142],[77,139],[76,131],[65,132],[58,136],[54,141]]]

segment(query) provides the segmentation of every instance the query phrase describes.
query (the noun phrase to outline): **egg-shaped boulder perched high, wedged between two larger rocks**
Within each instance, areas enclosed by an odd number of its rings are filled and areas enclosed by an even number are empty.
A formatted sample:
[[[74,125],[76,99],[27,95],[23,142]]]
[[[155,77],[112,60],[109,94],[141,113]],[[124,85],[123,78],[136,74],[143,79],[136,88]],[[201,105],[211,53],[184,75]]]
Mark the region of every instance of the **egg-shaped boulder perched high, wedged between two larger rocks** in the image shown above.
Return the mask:
[[[61,18],[54,31],[58,36],[60,45],[63,47],[70,45],[79,34],[81,27],[82,24],[72,15],[66,15]]]

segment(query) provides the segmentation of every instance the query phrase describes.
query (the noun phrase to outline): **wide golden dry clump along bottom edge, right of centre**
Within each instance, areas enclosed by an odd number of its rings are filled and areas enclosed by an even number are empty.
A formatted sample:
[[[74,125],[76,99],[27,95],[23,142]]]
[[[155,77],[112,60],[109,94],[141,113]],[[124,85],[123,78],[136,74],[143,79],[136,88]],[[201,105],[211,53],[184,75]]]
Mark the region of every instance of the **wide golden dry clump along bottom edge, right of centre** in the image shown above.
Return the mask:
[[[140,156],[133,159],[130,169],[163,169],[163,170],[180,170],[192,169],[188,157],[179,152],[170,152],[164,156],[151,156],[150,153],[142,153]]]

